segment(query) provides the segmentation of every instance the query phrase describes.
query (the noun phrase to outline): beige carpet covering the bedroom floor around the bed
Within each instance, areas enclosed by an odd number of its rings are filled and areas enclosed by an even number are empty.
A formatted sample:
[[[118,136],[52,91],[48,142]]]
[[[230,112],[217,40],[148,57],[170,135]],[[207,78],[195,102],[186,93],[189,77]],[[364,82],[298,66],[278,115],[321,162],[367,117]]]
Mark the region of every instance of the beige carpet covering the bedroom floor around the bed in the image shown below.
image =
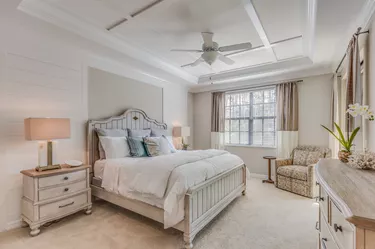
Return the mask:
[[[239,197],[194,240],[198,249],[316,249],[318,206],[312,200],[252,179]],[[181,233],[114,205],[70,216],[37,237],[28,228],[0,234],[1,249],[177,249]]]

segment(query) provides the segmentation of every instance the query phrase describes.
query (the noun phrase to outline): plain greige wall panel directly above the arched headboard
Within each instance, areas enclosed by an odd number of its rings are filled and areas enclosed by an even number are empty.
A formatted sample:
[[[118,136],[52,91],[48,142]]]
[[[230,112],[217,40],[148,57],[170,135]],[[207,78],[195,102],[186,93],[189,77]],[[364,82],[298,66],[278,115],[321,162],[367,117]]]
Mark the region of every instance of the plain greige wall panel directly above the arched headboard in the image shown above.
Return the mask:
[[[138,108],[163,120],[163,89],[99,69],[88,73],[88,117],[107,118]]]

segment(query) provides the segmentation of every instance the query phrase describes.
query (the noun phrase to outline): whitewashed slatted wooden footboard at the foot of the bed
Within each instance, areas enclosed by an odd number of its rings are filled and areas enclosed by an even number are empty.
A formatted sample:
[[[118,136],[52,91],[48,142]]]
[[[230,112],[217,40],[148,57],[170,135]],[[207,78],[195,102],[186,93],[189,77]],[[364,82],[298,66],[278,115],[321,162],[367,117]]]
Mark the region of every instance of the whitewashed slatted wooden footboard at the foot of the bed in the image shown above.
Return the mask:
[[[239,194],[244,195],[245,191],[244,164],[191,188],[185,196],[185,247],[192,248],[197,233]]]

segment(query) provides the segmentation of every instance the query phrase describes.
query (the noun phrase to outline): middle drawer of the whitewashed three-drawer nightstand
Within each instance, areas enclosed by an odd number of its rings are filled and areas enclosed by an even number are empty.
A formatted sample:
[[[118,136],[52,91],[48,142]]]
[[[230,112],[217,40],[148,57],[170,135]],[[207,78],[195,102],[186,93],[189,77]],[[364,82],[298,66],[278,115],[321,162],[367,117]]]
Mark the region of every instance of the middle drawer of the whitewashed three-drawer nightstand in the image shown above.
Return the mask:
[[[87,186],[86,180],[71,183],[68,185],[53,187],[49,189],[39,190],[39,201],[43,201],[50,198],[56,198],[66,194],[71,194],[85,189]]]

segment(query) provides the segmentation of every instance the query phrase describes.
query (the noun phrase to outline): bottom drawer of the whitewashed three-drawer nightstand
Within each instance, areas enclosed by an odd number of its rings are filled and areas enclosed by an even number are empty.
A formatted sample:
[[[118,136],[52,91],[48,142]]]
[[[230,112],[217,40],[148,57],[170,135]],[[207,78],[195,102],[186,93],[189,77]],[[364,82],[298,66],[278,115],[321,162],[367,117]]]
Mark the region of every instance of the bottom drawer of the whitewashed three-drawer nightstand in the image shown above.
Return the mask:
[[[88,193],[76,195],[61,201],[49,203],[39,208],[39,219],[54,217],[58,214],[65,214],[74,211],[88,204]]]

